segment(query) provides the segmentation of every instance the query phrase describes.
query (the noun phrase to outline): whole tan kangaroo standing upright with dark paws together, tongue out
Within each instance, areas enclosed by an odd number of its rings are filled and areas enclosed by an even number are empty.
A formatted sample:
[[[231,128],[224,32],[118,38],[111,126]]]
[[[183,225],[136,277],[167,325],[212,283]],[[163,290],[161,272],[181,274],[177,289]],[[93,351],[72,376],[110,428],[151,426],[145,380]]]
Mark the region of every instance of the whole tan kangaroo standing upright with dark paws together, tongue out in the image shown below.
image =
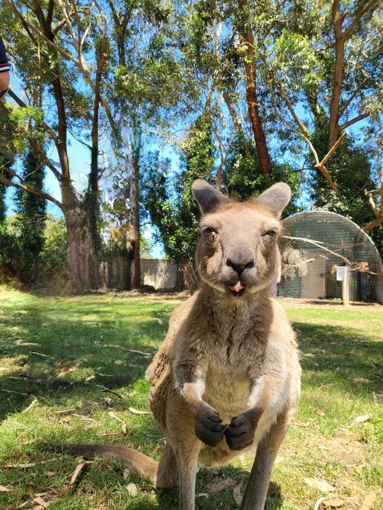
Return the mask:
[[[146,374],[150,409],[166,438],[160,462],[118,446],[52,448],[120,460],[158,488],[179,485],[179,508],[194,510],[197,466],[222,466],[257,447],[240,509],[262,510],[300,398],[295,335],[271,295],[279,218],[291,192],[280,182],[240,202],[204,180],[192,192],[202,213],[200,288],[174,310]]]

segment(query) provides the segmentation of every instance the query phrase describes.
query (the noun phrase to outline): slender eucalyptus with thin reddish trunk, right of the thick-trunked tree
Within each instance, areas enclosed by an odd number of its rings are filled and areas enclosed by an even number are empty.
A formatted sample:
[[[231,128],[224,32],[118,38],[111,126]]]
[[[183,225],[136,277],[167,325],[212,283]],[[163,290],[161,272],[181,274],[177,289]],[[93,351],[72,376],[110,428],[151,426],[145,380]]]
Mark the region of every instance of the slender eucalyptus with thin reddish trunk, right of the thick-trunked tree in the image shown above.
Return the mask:
[[[130,216],[135,288],[140,286],[141,279],[141,217],[145,215],[141,202],[148,161],[152,160],[156,146],[169,141],[178,113],[186,110],[191,97],[179,55],[182,11],[181,2],[105,2],[106,15],[112,21],[109,43],[115,55],[110,103],[120,133],[112,155],[115,165],[110,188],[114,193],[117,191],[120,204],[125,202],[124,210]],[[113,202],[115,198],[111,196],[109,200]],[[126,231],[126,218],[117,223]]]

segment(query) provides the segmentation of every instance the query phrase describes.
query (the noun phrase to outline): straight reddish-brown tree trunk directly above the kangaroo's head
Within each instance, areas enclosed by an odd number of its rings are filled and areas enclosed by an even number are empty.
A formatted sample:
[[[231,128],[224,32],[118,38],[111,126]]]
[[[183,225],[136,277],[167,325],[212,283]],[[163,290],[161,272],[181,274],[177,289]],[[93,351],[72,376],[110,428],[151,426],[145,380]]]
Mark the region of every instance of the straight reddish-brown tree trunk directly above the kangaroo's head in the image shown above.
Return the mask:
[[[261,174],[271,174],[272,162],[267,149],[262,120],[259,115],[255,76],[254,36],[251,30],[247,30],[244,36],[244,42],[246,44],[246,101],[247,107],[249,108],[249,117],[253,129],[255,146],[258,152],[259,168]]]

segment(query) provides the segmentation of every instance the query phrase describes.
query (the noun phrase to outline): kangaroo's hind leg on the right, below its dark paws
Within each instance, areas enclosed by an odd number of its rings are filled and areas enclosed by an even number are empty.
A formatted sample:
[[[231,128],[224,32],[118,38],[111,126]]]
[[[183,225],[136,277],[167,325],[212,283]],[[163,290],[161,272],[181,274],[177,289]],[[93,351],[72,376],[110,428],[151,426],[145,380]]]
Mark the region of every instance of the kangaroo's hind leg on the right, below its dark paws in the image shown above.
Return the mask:
[[[277,422],[257,445],[257,454],[240,510],[263,510],[264,508],[274,461],[290,424],[286,414],[279,416]]]

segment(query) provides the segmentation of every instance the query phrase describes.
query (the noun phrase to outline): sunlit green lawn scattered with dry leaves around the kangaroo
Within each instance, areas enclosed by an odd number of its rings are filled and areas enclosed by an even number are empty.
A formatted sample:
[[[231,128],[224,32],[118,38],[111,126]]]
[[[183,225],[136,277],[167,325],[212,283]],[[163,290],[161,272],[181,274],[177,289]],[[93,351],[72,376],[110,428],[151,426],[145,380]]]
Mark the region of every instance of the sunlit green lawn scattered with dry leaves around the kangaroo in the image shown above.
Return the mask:
[[[0,288],[0,485],[12,491],[0,488],[0,508],[31,497],[26,508],[39,501],[71,510],[177,508],[176,489],[156,492],[101,459],[71,485],[80,460],[50,453],[45,443],[114,443],[160,458],[164,441],[152,415],[128,408],[148,410],[145,369],[178,303],[129,294],[39,298]],[[383,508],[383,410],[373,398],[373,391],[383,393],[380,310],[288,308],[302,352],[302,400],[276,461],[267,509],[313,508],[322,497],[361,508],[370,493],[374,503],[366,509]],[[354,421],[363,415],[369,418]],[[233,483],[236,496],[252,460],[240,456],[222,470],[200,470],[197,494],[205,495],[197,508],[238,508]],[[322,492],[305,478],[333,490]]]

